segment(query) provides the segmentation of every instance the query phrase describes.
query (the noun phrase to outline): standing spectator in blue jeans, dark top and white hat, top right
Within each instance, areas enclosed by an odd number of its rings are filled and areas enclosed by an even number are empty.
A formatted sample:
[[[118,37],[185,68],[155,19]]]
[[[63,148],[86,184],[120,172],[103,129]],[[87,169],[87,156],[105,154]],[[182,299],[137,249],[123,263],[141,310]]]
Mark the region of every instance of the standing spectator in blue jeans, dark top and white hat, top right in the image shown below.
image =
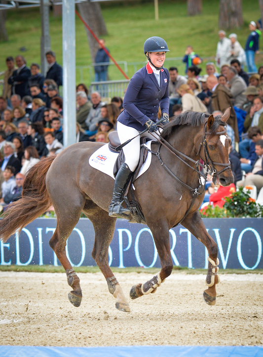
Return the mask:
[[[251,31],[246,42],[246,59],[247,59],[247,69],[248,72],[257,72],[257,67],[255,65],[255,54],[259,53],[259,39],[261,32],[258,30],[257,24],[251,21],[249,24],[249,29]]]

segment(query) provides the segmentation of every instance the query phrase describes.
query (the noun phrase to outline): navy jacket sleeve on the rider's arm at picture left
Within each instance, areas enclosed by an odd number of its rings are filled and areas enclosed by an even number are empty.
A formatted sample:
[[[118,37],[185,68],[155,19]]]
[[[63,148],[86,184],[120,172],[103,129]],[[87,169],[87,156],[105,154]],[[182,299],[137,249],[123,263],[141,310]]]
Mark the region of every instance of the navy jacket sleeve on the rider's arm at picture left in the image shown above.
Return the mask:
[[[127,91],[123,99],[123,108],[126,109],[127,113],[135,118],[139,123],[145,125],[149,118],[141,112],[135,105],[134,102],[143,86],[144,78],[141,73],[136,72],[130,80]]]

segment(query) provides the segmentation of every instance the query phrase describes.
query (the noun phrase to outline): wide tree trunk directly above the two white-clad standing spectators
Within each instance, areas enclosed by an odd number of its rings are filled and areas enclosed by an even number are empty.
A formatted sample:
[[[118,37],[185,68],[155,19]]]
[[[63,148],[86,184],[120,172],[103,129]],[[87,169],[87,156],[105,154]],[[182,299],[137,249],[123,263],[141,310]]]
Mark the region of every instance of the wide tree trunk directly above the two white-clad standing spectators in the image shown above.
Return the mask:
[[[232,29],[244,24],[242,15],[242,0],[220,0],[219,27]]]

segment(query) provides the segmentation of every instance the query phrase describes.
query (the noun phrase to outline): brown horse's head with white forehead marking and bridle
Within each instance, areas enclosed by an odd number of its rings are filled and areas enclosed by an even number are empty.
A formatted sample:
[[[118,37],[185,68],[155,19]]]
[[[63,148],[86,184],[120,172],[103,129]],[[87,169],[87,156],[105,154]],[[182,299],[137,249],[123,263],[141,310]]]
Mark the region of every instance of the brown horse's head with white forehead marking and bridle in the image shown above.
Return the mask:
[[[234,182],[228,159],[230,138],[227,135],[225,122],[229,118],[230,107],[225,110],[222,118],[210,115],[204,125],[202,157],[205,164],[211,168],[213,182],[219,180],[222,186]]]

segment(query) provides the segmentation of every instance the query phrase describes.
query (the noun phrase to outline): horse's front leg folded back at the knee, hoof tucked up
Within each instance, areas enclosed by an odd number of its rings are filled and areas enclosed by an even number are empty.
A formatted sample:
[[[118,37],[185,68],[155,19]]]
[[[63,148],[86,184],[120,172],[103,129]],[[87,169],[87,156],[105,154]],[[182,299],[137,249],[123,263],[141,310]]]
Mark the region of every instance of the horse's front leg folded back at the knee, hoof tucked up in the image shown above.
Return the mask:
[[[154,277],[146,283],[133,286],[130,291],[131,299],[136,299],[140,296],[156,292],[157,287],[164,282],[165,278],[167,278],[173,270],[168,226],[163,222],[160,222],[160,225],[154,223],[154,227],[148,223],[148,226],[151,230],[154,243],[159,254],[161,271],[154,275]]]

